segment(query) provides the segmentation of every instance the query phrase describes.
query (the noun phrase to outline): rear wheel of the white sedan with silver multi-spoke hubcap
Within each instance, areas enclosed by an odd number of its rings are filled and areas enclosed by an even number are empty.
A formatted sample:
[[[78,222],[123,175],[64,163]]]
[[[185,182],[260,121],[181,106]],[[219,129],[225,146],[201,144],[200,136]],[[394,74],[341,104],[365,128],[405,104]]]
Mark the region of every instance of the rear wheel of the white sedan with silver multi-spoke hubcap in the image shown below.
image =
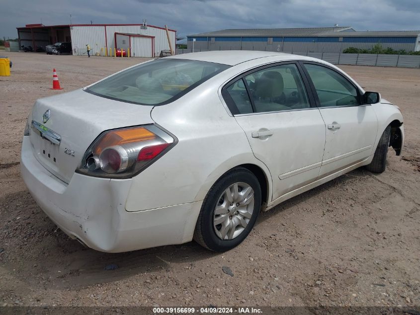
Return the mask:
[[[215,213],[216,207],[220,213]],[[257,178],[246,168],[235,168],[223,175],[207,193],[193,238],[212,251],[230,250],[251,232],[260,209],[261,188]]]

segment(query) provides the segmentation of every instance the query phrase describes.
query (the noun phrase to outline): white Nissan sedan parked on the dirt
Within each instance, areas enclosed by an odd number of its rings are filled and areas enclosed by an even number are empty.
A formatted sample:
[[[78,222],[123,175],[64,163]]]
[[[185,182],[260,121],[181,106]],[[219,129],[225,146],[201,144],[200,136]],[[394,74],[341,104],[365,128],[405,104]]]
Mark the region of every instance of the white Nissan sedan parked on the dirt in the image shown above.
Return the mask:
[[[399,108],[325,61],[200,52],[37,100],[20,165],[42,210],[88,247],[226,251],[260,211],[361,166],[383,172],[403,139]]]

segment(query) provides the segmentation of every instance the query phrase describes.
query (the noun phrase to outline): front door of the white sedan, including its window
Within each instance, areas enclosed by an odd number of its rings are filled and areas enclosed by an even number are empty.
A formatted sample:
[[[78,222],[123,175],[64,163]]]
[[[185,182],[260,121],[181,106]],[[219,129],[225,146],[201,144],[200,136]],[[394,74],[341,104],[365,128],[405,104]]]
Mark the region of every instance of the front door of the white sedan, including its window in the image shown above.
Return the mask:
[[[361,105],[357,87],[335,69],[309,62],[303,62],[303,67],[326,128],[320,177],[369,158],[378,128],[373,107]]]

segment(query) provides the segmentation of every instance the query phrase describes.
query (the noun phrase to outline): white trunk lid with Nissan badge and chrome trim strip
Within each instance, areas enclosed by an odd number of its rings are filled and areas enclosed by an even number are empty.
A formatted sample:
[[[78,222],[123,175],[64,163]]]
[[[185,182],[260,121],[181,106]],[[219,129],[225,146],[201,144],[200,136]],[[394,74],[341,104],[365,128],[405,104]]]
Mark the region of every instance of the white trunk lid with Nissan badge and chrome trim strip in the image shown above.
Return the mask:
[[[48,171],[69,183],[85,151],[101,132],[153,123],[152,108],[83,90],[37,100],[29,118],[33,154]]]

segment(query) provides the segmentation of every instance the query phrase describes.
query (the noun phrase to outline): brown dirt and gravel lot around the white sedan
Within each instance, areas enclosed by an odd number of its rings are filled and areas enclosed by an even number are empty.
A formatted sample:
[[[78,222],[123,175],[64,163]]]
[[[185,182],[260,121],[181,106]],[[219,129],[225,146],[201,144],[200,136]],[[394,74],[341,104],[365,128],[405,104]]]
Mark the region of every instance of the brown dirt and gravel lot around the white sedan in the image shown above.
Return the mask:
[[[70,240],[35,204],[19,175],[21,138],[36,99],[141,59],[8,55],[12,75],[0,77],[0,306],[420,306],[420,69],[342,67],[405,116],[405,150],[388,153],[383,174],[355,170],[261,213],[230,252],[191,242],[106,254]],[[63,91],[49,90],[53,67]]]

